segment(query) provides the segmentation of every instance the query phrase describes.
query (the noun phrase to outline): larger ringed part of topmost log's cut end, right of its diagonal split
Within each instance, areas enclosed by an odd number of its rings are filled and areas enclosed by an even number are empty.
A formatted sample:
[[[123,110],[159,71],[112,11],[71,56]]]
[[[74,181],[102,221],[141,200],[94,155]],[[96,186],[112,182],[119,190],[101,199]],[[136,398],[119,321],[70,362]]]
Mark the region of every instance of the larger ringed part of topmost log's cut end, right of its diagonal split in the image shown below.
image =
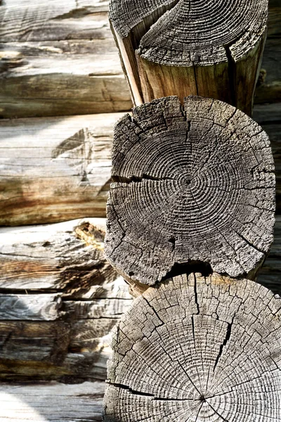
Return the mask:
[[[239,60],[260,39],[267,13],[268,0],[181,0],[143,36],[138,53],[162,65],[212,65],[228,61],[230,48]]]

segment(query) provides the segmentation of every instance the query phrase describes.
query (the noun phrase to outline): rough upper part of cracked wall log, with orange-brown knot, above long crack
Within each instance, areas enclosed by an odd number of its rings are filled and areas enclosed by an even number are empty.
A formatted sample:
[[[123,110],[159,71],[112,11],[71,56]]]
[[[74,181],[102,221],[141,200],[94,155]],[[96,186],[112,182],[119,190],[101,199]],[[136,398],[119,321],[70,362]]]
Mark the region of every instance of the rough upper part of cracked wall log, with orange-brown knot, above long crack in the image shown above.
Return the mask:
[[[0,228],[2,293],[62,293],[63,299],[130,298],[103,253],[105,219]]]

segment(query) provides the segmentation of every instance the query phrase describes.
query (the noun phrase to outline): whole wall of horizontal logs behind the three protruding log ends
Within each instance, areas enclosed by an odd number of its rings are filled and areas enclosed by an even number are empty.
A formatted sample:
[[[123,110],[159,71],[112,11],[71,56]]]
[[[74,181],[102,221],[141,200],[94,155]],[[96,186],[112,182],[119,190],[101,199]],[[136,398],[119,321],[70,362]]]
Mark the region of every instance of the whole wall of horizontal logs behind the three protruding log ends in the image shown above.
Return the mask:
[[[0,379],[8,381],[0,385],[1,422],[22,421],[27,411],[37,422],[101,421],[108,334],[131,296],[112,270],[103,273],[102,252],[89,262],[85,224],[102,231],[104,220],[34,224],[105,217],[112,127],[131,109],[107,8],[98,0],[1,2]],[[275,293],[281,293],[280,17],[280,1],[270,1],[254,107],[275,158],[275,242],[259,275]],[[102,248],[101,238],[94,243]],[[76,260],[68,274],[67,259]]]

